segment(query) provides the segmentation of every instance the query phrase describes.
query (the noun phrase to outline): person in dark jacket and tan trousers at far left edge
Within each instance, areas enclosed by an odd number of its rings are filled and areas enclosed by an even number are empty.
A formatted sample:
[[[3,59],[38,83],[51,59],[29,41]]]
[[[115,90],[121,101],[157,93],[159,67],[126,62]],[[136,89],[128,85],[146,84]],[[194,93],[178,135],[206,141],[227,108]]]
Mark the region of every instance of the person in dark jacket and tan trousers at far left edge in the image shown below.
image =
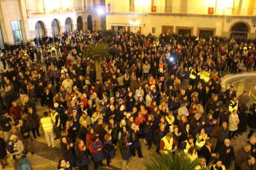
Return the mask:
[[[3,131],[4,141],[7,141],[11,136],[11,133],[10,133],[10,130],[12,128],[11,122],[12,122],[12,119],[9,116],[8,112],[4,111],[3,116],[1,116],[0,118],[0,127]]]

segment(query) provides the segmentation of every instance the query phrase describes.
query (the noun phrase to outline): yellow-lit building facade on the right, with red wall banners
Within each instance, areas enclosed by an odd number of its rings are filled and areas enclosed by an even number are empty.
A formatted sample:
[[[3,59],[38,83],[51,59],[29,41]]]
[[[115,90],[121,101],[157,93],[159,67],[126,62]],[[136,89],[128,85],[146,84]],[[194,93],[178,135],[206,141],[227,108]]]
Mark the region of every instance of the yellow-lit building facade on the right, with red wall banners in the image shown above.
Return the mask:
[[[106,28],[255,38],[255,0],[106,0]]]

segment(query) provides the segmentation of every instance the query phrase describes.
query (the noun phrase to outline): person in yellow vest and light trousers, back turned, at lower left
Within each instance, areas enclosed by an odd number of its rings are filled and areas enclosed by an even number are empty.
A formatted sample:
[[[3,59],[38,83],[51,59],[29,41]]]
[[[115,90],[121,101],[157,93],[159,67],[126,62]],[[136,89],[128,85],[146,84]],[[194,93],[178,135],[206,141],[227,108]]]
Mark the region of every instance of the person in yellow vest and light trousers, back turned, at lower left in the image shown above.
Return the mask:
[[[45,139],[49,147],[54,148],[54,134],[53,134],[53,125],[52,118],[48,116],[48,112],[44,112],[44,118],[41,118],[42,127],[45,134]]]

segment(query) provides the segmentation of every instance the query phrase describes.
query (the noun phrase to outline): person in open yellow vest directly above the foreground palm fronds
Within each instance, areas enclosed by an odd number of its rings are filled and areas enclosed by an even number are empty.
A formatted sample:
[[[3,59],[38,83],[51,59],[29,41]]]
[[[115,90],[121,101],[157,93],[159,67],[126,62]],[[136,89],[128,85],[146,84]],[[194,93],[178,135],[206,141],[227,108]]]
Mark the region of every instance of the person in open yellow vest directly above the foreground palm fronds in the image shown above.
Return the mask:
[[[177,149],[177,146],[177,141],[173,139],[172,133],[168,132],[160,141],[160,153],[172,153],[174,150]]]

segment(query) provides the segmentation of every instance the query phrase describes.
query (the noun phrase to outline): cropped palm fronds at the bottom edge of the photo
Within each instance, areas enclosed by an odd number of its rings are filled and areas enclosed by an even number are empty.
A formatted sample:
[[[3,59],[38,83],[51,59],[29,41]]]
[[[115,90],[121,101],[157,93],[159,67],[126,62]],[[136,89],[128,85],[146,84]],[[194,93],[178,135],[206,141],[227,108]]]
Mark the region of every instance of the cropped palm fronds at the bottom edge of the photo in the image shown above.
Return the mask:
[[[144,163],[147,170],[195,170],[198,158],[191,160],[184,153],[153,154]],[[201,169],[205,170],[205,169]]]

